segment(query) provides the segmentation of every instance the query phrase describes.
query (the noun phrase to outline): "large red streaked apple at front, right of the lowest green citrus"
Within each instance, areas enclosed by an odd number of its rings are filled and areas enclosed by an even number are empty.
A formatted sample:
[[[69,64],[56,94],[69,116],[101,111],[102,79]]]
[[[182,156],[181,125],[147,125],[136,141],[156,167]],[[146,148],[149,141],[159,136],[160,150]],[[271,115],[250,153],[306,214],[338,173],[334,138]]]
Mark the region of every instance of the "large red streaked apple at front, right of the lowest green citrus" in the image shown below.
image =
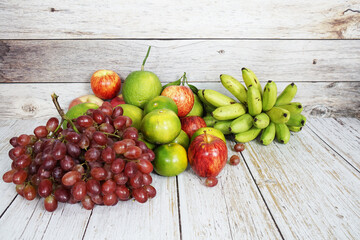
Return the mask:
[[[210,134],[201,134],[188,148],[189,164],[198,176],[215,177],[225,167],[227,153],[223,140]]]

